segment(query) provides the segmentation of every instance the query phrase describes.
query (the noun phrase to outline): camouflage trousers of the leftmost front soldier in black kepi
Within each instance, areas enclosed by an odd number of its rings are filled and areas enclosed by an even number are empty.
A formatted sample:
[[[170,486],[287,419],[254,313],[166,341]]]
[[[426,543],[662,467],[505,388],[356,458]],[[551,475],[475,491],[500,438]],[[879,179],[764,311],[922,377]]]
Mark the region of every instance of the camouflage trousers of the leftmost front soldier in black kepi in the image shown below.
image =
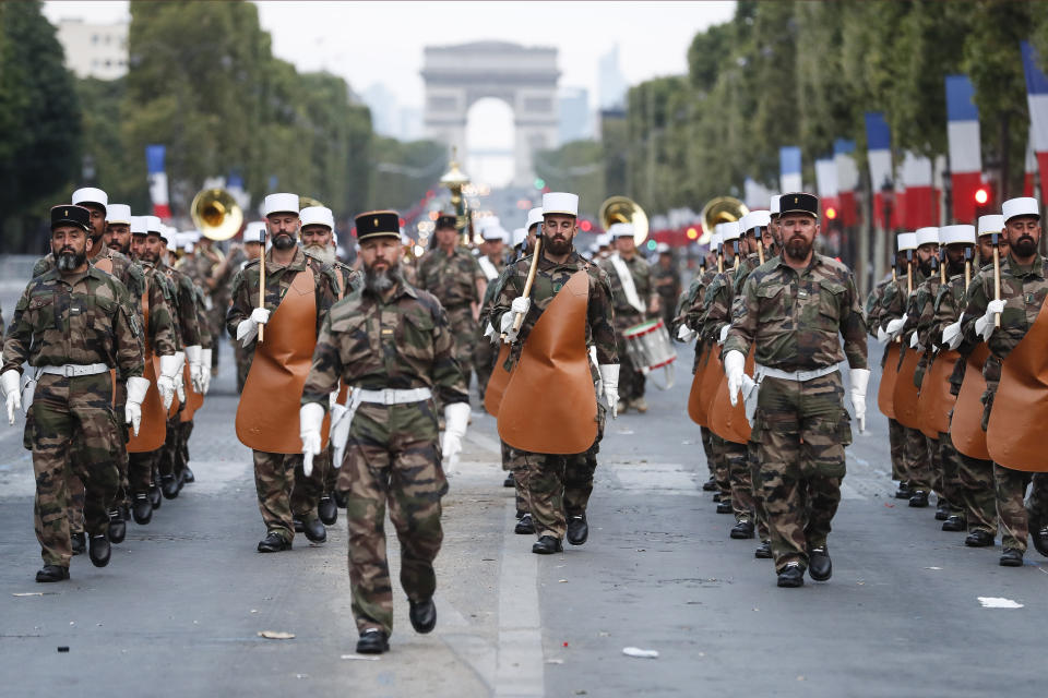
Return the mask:
[[[68,567],[72,556],[68,512],[72,476],[85,489],[86,531],[106,532],[106,513],[120,486],[120,438],[108,374],[40,376],[25,441],[33,452],[34,527],[44,564]]]

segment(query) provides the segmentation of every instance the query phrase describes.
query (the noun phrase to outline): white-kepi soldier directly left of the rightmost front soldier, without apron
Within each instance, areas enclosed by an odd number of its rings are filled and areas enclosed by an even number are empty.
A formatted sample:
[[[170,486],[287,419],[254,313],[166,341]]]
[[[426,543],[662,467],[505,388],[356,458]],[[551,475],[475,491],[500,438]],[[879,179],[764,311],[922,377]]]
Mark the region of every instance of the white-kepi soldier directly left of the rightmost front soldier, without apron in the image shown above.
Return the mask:
[[[980,216],[978,220],[977,255],[979,268],[991,268],[993,265],[992,236],[1004,229],[1004,217],[999,214]],[[1008,255],[1008,241],[1004,236],[998,238],[998,253],[1001,258]],[[975,344],[964,341],[961,332],[961,314],[966,303],[965,277],[963,274],[951,277],[946,286],[939,291],[936,299],[936,322],[941,345],[949,349],[956,349],[961,358],[950,375],[950,392],[956,396],[961,392],[961,384],[967,371],[967,358],[975,348]],[[981,342],[981,337],[977,338]],[[949,435],[948,435],[949,437]],[[964,506],[964,522],[967,525],[968,535],[964,544],[969,547],[987,547],[993,545],[997,537],[997,497],[993,492],[993,461],[982,458],[973,458],[955,448],[957,456],[957,478],[961,483],[961,500]],[[949,521],[949,519],[948,519]],[[952,527],[951,527],[952,528]]]

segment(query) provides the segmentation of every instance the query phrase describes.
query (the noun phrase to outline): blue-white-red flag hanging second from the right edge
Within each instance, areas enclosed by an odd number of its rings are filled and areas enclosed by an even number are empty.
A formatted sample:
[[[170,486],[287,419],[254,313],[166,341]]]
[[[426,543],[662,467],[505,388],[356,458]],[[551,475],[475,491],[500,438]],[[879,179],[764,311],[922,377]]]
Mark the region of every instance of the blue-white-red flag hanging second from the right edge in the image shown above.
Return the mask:
[[[946,141],[950,145],[953,217],[963,222],[975,221],[975,192],[982,185],[979,109],[974,96],[975,86],[967,75],[946,75]]]

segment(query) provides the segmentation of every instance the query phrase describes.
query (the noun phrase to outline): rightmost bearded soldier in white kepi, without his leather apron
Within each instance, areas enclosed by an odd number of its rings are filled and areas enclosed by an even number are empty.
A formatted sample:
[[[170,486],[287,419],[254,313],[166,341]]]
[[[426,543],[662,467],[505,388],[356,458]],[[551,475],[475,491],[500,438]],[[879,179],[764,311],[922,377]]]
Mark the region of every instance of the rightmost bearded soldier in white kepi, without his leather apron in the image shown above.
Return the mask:
[[[1022,341],[1048,299],[1048,260],[1038,253],[1040,244],[1040,209],[1036,198],[1010,198],[1001,206],[1008,255],[1000,262],[1000,300],[995,300],[992,267],[984,267],[972,279],[966,292],[967,304],[961,315],[965,341],[986,341],[990,357],[982,368],[986,378],[982,428],[993,409],[993,397],[1001,376],[1001,363]],[[997,327],[1000,322],[1000,327]],[[1029,514],[1023,505],[1026,488],[1033,481],[1031,510],[1035,519],[1035,541],[1044,532],[1036,524],[1048,520],[1048,474],[1031,474],[993,464],[997,516],[1002,531],[1000,564],[1021,567],[1029,532]],[[1040,549],[1040,545],[1038,545]],[[1041,552],[1045,552],[1041,550]]]

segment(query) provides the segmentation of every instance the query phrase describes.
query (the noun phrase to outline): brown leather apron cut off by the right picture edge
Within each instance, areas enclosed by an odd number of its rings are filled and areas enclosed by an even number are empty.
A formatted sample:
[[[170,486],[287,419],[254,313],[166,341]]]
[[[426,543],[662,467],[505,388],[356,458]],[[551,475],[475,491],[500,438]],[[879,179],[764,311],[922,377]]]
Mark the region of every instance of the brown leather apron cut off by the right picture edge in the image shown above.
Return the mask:
[[[1012,470],[1048,472],[1044,429],[1048,420],[1048,302],[1001,363],[986,445],[993,462]]]

